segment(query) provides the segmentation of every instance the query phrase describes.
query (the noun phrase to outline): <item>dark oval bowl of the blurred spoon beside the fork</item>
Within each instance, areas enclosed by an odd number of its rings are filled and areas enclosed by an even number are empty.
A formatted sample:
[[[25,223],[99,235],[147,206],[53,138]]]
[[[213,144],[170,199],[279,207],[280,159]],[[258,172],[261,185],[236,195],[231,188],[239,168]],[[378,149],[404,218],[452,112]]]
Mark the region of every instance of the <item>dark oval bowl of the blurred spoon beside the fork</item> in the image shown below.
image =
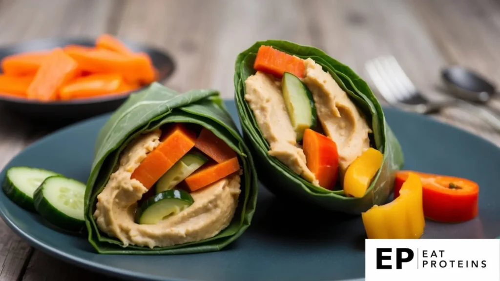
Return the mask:
[[[496,86],[492,82],[461,66],[442,69],[441,77],[451,94],[466,101],[485,103],[496,92]]]

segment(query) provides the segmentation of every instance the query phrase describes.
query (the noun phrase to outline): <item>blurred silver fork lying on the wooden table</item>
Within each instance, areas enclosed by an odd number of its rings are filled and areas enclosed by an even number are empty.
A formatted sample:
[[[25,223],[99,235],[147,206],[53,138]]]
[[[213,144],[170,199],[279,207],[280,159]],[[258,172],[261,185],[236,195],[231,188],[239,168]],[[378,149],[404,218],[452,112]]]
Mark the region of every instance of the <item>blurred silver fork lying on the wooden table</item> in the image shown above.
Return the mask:
[[[500,131],[500,116],[486,108],[455,98],[437,102],[425,98],[393,56],[368,60],[365,68],[378,92],[392,106],[421,114],[437,112],[445,106],[460,106]]]

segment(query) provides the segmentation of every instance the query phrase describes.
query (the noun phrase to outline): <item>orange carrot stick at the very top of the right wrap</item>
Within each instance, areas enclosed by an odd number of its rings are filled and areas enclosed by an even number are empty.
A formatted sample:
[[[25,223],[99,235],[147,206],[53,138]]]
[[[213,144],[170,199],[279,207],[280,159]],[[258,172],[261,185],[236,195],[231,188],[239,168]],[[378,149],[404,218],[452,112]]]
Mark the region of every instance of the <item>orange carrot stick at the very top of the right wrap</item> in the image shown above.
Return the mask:
[[[301,58],[264,45],[258,48],[253,68],[273,74],[277,78],[281,78],[284,72],[303,78],[305,71],[304,61]]]

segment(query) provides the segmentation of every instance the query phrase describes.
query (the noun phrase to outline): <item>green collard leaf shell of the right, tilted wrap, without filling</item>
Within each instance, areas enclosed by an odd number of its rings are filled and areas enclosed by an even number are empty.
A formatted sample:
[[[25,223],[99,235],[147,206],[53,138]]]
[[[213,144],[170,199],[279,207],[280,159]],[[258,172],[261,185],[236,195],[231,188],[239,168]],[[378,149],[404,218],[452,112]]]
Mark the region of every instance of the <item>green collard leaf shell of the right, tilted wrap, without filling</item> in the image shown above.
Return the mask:
[[[338,85],[347,93],[357,108],[363,113],[373,130],[373,144],[383,153],[383,163],[375,175],[366,194],[361,198],[347,197],[343,190],[327,190],[314,186],[294,173],[267,151],[269,144],[262,136],[255,116],[244,99],[244,81],[256,71],[253,62],[261,45],[300,58],[310,57],[331,74]],[[374,204],[384,204],[392,191],[395,171],[403,165],[400,144],[385,121],[382,107],[370,88],[348,66],[328,56],[322,50],[283,40],[258,41],[236,57],[234,69],[236,107],[243,130],[243,137],[255,159],[259,180],[277,196],[290,197],[294,202],[310,203],[323,209],[359,214]],[[371,137],[371,136],[370,136]]]

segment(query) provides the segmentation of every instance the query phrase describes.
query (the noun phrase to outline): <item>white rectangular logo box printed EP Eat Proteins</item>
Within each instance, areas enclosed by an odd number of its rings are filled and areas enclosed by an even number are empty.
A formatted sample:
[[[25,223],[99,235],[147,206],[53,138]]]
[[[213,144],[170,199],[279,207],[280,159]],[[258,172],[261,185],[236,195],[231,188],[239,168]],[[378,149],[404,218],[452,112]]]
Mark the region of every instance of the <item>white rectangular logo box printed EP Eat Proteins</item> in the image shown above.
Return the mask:
[[[497,280],[499,239],[366,239],[371,280]]]

